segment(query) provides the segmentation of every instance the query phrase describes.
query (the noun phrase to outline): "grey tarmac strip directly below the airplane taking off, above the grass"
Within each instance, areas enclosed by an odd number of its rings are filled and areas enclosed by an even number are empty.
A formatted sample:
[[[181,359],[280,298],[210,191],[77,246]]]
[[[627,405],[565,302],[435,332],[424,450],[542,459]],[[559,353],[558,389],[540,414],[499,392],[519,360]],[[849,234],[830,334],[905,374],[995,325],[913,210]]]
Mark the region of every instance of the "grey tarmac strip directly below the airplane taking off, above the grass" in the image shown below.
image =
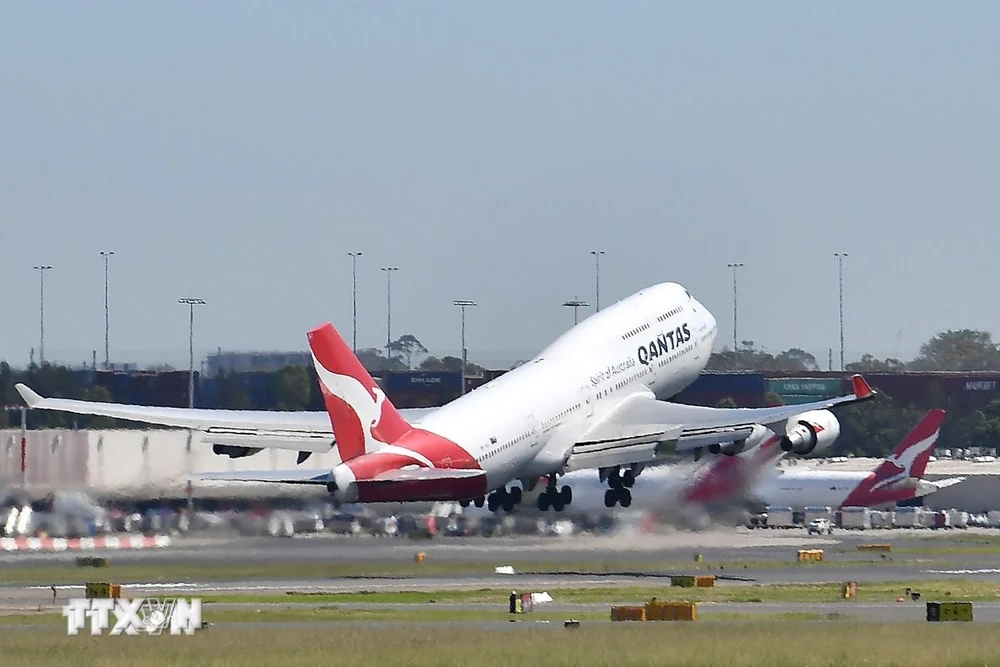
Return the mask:
[[[567,537],[437,537],[410,540],[400,537],[302,535],[293,538],[238,536],[180,536],[161,549],[110,551],[116,562],[143,563],[284,563],[410,561],[417,551],[437,562],[496,563],[520,561],[568,563],[613,561],[627,564],[652,560],[688,560],[701,553],[715,561],[781,561],[798,549],[854,550],[858,544],[892,543],[894,547],[969,546],[964,540],[992,537],[1000,544],[1000,530],[969,529],[837,531],[807,535],[804,529],[748,530],[719,528],[703,532],[676,531],[659,535],[624,530],[613,535]],[[930,538],[930,539],[929,539]],[[839,549],[838,549],[839,547]],[[72,562],[79,554],[11,552],[0,563],[16,566],[40,562]],[[861,554],[858,558],[867,558]],[[995,561],[995,559],[994,559]]]

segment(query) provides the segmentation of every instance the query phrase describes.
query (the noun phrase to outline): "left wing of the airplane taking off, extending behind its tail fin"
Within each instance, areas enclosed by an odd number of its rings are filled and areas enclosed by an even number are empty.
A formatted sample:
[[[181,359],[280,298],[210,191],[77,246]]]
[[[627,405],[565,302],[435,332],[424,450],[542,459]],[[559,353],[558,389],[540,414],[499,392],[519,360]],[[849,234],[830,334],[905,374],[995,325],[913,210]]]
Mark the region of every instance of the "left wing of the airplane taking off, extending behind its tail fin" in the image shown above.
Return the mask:
[[[17,392],[33,410],[55,410],[82,415],[124,419],[145,424],[203,431],[208,444],[326,452],[333,444],[333,429],[326,412],[259,410],[207,410],[123,403],[98,403],[71,398],[45,398],[23,384]],[[435,408],[400,410],[411,424]]]

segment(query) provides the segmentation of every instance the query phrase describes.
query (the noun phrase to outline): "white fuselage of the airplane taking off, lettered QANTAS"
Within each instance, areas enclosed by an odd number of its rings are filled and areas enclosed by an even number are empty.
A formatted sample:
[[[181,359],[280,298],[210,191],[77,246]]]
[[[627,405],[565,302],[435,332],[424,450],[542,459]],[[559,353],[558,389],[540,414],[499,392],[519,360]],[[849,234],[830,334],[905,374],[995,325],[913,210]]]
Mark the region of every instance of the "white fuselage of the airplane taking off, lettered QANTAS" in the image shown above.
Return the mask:
[[[490,489],[565,462],[601,415],[640,389],[674,396],[698,377],[715,341],[712,314],[675,283],[596,313],[537,357],[435,410],[420,427],[458,443]]]

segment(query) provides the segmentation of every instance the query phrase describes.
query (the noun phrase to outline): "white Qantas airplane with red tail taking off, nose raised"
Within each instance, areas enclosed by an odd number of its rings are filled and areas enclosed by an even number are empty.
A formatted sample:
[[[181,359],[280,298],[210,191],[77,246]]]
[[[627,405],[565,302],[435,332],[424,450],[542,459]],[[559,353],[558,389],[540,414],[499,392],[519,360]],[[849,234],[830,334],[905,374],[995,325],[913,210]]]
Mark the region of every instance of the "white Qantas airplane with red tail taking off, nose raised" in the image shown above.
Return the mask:
[[[336,502],[457,500],[508,512],[540,479],[539,509],[561,511],[573,492],[558,488],[558,477],[583,469],[596,469],[608,497],[628,507],[644,468],[676,452],[734,456],[767,433],[781,434],[783,451],[819,453],[840,432],[829,409],[875,396],[854,375],[851,394],[804,405],[709,408],[666,400],[704,370],[716,331],[715,318],[687,289],[660,283],[595,313],[504,375],[418,411],[397,410],[329,323],[307,334],[325,414],[132,406],[44,398],[23,384],[17,390],[32,409],[203,431],[216,453],[231,457],[297,449],[301,464],[336,446],[341,458],[332,470],[199,479],[322,484]]]

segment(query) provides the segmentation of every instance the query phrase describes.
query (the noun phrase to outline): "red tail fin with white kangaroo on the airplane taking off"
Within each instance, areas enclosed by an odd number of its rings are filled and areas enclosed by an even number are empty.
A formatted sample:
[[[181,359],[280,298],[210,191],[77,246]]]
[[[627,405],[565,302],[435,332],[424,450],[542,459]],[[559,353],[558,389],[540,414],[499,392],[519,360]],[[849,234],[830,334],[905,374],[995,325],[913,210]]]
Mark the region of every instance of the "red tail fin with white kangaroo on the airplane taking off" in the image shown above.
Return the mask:
[[[306,337],[342,461],[391,444],[410,430],[332,324]]]

